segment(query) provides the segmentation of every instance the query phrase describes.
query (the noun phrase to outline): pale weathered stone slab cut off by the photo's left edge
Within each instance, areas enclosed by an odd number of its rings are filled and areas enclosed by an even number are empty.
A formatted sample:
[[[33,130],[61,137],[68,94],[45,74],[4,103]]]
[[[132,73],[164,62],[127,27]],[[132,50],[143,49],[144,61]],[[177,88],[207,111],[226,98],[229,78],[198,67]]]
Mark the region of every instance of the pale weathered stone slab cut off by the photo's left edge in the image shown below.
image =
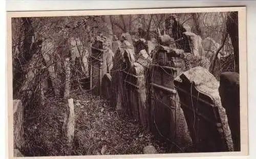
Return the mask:
[[[14,148],[22,149],[24,145],[24,106],[22,101],[13,100],[13,144]]]

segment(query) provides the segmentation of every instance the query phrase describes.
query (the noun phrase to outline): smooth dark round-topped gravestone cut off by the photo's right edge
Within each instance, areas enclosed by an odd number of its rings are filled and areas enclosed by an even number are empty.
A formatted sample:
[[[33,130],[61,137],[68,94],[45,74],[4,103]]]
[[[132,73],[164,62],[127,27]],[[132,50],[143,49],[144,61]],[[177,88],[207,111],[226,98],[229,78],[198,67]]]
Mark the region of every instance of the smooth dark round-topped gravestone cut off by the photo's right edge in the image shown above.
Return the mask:
[[[240,143],[240,87],[239,74],[224,72],[220,75],[219,93],[221,103],[226,109],[228,123],[232,134],[234,151],[241,150]]]

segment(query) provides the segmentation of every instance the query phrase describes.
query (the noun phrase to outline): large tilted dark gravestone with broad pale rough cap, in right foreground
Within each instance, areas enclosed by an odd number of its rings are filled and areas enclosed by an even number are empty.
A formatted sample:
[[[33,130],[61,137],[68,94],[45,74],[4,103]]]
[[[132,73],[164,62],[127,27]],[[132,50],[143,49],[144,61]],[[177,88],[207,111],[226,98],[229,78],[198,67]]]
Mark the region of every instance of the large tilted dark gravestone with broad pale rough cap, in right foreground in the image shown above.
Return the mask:
[[[221,105],[219,82],[203,67],[194,67],[175,81],[195,151],[233,151],[225,108]]]

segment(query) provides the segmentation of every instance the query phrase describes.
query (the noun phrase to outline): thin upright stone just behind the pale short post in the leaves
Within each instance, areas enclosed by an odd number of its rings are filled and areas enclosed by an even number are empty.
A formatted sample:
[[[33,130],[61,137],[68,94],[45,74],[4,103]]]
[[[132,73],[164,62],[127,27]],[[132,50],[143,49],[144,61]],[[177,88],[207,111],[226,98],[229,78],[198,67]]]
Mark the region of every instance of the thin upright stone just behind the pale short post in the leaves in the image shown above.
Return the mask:
[[[65,67],[65,74],[66,74],[64,98],[69,98],[69,96],[70,96],[70,77],[71,77],[69,58],[67,58],[64,61],[64,67]]]

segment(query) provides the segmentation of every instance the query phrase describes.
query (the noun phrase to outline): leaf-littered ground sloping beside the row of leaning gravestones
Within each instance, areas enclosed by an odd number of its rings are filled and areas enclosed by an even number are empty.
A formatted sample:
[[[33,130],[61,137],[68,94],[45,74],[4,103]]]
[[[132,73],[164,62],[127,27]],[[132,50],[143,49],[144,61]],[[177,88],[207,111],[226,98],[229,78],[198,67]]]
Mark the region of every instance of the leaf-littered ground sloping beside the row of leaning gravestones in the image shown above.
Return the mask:
[[[158,153],[169,153],[135,120],[120,117],[109,102],[88,93],[75,93],[75,134],[68,146],[62,132],[67,101],[51,99],[44,107],[25,110],[26,156],[143,154],[153,145]]]

